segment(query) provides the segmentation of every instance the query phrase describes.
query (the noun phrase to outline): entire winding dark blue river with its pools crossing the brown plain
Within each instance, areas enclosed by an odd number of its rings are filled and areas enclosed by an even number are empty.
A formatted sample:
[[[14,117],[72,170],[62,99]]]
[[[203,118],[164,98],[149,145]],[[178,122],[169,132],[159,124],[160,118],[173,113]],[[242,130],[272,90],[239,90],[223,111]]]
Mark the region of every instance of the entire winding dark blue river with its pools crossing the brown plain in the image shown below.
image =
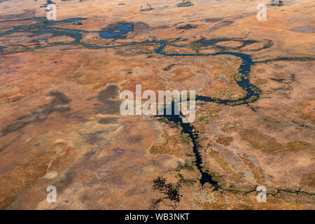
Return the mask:
[[[25,52],[29,50],[34,50],[38,48],[47,48],[53,45],[83,45],[85,48],[89,49],[107,49],[107,48],[122,48],[126,46],[131,45],[141,45],[141,44],[147,44],[147,43],[158,43],[159,47],[155,48],[154,52],[159,55],[164,55],[165,57],[207,57],[207,56],[216,56],[216,55],[232,55],[235,57],[239,57],[241,59],[241,65],[239,66],[239,72],[235,74],[235,81],[237,82],[237,85],[241,87],[243,90],[246,91],[246,95],[242,97],[241,99],[217,99],[217,98],[211,98],[206,96],[196,96],[196,100],[200,100],[202,102],[214,102],[217,104],[225,104],[230,106],[240,105],[240,104],[248,104],[251,102],[254,102],[260,97],[260,89],[256,87],[255,85],[252,85],[249,82],[249,73],[251,71],[251,66],[253,64],[252,58],[250,55],[246,55],[244,53],[240,52],[216,52],[216,53],[209,53],[209,54],[202,54],[202,53],[190,53],[190,54],[179,54],[179,53],[167,53],[165,52],[165,47],[167,46],[167,41],[142,41],[142,42],[133,42],[133,43],[127,43],[123,45],[109,45],[109,46],[101,46],[101,45],[94,45],[94,44],[88,44],[88,43],[82,43],[82,35],[86,33],[99,33],[99,36],[101,38],[125,38],[125,34],[127,34],[130,31],[134,30],[134,25],[132,23],[118,23],[115,27],[103,29],[102,31],[85,31],[81,29],[66,29],[66,28],[60,28],[55,27],[55,25],[62,25],[69,22],[78,22],[81,20],[85,20],[85,18],[71,18],[67,20],[61,20],[61,21],[47,21],[45,18],[29,18],[24,20],[4,20],[1,22],[18,22],[18,21],[25,21],[25,20],[31,20],[31,21],[37,21],[36,24],[33,25],[21,25],[21,26],[12,26],[12,27],[3,27],[1,29],[8,29],[7,31],[4,31],[0,33],[0,36],[6,36],[9,34],[14,33],[27,33],[30,37],[39,36],[42,34],[51,34],[51,36],[45,37],[45,38],[34,38],[33,43],[34,46],[31,49],[22,49],[22,50],[15,50],[15,51],[3,51],[7,48],[10,48],[9,45],[6,48],[1,47],[0,55],[5,54],[13,54],[16,52]],[[1,23],[0,22],[0,23]],[[0,31],[1,31],[0,29]],[[49,38],[55,37],[55,36],[69,36],[71,38],[74,38],[74,41],[71,41],[70,43],[54,43],[51,45],[41,45],[39,41],[48,40]],[[229,41],[230,39],[212,39],[205,41],[204,39],[200,40],[199,42],[203,45],[214,45],[215,43],[220,43],[222,41]],[[255,41],[244,41],[244,45],[248,45],[250,43],[255,43]],[[15,45],[15,46],[18,46]],[[174,104],[172,104],[172,107],[174,107]],[[165,113],[166,114],[166,113]],[[204,169],[203,162],[202,162],[202,155],[200,154],[200,144],[198,142],[199,133],[197,130],[195,130],[195,127],[191,125],[190,123],[183,123],[180,116],[176,115],[165,115],[163,116],[167,120],[181,126],[181,133],[188,135],[190,137],[192,143],[193,143],[193,153],[195,153],[195,165],[198,169],[198,171],[201,174],[200,183],[202,186],[204,186],[204,183],[209,183],[211,186],[214,186],[215,190],[220,188],[218,185],[218,182],[214,180],[213,176],[207,172],[207,169]]]

